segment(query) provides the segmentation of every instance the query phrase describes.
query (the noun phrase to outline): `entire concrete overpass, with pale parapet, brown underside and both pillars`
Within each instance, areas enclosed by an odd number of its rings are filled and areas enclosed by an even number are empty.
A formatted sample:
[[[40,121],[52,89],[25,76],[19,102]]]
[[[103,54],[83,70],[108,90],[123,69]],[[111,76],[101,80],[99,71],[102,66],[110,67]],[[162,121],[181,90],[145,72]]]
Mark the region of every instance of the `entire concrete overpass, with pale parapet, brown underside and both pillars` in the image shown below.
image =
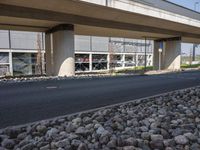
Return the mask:
[[[74,74],[74,34],[155,40],[155,68],[163,45],[162,68],[179,69],[181,42],[200,43],[200,14],[164,0],[3,0],[0,29],[46,32],[49,75]]]

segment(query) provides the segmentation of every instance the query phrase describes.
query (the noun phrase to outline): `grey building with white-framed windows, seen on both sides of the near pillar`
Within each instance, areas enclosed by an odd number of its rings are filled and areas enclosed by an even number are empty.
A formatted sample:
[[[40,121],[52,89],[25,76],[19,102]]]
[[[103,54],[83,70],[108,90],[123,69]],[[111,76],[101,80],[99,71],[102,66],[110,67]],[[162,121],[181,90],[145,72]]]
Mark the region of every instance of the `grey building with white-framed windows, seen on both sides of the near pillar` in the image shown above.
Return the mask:
[[[45,34],[0,30],[0,75],[45,74]],[[145,61],[146,58],[146,61]],[[153,41],[75,35],[76,72],[152,66]]]

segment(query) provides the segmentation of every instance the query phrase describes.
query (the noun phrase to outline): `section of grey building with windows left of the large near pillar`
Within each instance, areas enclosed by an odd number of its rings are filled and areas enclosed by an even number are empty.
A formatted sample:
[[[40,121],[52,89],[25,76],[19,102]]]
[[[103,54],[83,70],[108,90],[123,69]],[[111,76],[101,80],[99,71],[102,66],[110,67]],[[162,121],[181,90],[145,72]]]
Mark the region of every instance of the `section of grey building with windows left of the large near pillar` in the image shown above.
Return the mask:
[[[0,30],[0,75],[38,74],[43,43],[43,33]]]

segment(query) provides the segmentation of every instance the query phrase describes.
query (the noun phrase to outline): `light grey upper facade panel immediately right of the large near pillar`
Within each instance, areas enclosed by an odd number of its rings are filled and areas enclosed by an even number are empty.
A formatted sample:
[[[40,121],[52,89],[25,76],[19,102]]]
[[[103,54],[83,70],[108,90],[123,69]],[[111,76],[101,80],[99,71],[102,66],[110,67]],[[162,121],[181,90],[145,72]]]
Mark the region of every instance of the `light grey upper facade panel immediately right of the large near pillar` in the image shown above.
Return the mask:
[[[90,36],[75,35],[75,50],[90,51]]]

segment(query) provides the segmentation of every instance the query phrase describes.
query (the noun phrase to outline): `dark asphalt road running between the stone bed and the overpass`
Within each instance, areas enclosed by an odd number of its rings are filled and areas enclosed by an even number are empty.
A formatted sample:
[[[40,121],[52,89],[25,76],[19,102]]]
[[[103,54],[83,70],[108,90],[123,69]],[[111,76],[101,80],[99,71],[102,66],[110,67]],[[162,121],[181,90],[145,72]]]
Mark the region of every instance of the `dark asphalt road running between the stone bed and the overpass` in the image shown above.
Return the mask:
[[[0,128],[200,85],[200,72],[0,85]]]

